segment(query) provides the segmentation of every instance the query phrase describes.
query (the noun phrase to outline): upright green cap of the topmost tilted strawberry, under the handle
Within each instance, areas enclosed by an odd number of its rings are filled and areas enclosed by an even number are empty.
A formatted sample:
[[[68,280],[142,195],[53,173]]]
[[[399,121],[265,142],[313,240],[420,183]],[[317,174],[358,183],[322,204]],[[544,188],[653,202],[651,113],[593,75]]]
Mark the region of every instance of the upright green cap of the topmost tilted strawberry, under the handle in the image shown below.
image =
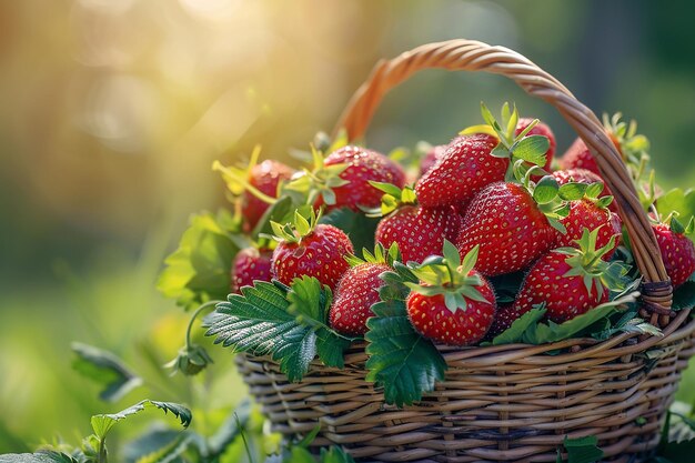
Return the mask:
[[[547,161],[546,152],[550,148],[550,140],[543,135],[528,135],[528,132],[540,122],[534,119],[518,135],[515,134],[518,123],[518,111],[516,105],[510,110],[510,103],[502,105],[501,122],[492,115],[485,103],[481,102],[481,113],[484,124],[469,127],[459,134],[469,135],[473,133],[487,133],[496,137],[500,142],[491,151],[491,155],[495,158],[507,158],[512,160],[512,164],[517,160],[523,160],[532,165],[544,167]],[[543,171],[541,174],[546,174]]]

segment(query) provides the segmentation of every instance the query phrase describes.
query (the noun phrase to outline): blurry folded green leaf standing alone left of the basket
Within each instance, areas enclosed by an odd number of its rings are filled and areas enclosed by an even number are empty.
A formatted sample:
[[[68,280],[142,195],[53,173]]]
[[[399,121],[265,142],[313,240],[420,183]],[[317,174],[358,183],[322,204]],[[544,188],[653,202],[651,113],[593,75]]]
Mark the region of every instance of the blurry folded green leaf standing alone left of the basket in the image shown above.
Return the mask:
[[[111,352],[78,342],[72,343],[72,352],[75,354],[72,368],[103,386],[99,393],[102,401],[117,402],[142,385],[142,379]]]

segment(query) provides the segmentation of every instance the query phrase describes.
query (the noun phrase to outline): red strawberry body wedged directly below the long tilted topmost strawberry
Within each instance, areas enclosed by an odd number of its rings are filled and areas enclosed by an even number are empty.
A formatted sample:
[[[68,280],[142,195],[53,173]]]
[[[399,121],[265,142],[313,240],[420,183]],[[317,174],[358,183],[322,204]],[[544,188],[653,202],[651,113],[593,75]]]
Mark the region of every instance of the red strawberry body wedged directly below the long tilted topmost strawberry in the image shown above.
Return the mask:
[[[439,254],[444,240],[456,239],[461,222],[461,215],[451,205],[403,205],[379,222],[374,238],[384,248],[397,243],[403,262],[422,262]]]

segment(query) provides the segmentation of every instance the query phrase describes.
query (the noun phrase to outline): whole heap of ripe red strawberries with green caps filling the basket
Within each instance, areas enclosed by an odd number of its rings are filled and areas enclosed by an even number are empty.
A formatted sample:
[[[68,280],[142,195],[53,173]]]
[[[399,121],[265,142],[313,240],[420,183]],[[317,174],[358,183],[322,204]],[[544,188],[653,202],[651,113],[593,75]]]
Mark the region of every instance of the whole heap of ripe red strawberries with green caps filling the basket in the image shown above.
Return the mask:
[[[376,151],[345,145],[328,155],[314,150],[313,165],[300,171],[264,161],[236,175],[246,231],[282,194],[303,205],[284,223],[271,222],[274,240],[238,253],[232,291],[255,280],[289,285],[314,276],[334,293],[331,326],[360,336],[380,300],[380,275],[392,269],[384,250],[397,246],[397,260],[419,280],[407,283],[409,318],[439,343],[491,339],[538,306],[562,323],[607,302],[627,265],[614,256],[621,219],[591,152],[577,139],[555,160],[550,127],[506,104],[500,121],[482,110],[485,124],[433,147],[414,174]],[[607,131],[621,151],[625,140]],[[343,208],[381,217],[375,251],[364,250],[364,260],[345,232],[321,223]],[[695,248],[679,222],[654,219],[678,286],[695,272]],[[495,279],[520,272],[513,301],[498,303]]]

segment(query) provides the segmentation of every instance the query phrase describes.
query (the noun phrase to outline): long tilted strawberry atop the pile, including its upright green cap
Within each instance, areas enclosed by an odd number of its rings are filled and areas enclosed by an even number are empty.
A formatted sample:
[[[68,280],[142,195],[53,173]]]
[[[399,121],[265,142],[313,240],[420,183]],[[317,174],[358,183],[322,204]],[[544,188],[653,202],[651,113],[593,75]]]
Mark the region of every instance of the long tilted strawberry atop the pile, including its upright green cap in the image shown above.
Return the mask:
[[[481,109],[487,124],[462,131],[462,135],[446,147],[442,158],[415,185],[423,207],[455,205],[463,209],[463,204],[479,191],[490,183],[504,180],[510,159],[516,161],[516,154],[533,164],[545,164],[543,153],[548,149],[548,139],[541,135],[526,137],[537,121],[527,124],[515,135],[518,120],[516,108],[510,112],[508,104],[504,104],[502,125],[484,104]]]

